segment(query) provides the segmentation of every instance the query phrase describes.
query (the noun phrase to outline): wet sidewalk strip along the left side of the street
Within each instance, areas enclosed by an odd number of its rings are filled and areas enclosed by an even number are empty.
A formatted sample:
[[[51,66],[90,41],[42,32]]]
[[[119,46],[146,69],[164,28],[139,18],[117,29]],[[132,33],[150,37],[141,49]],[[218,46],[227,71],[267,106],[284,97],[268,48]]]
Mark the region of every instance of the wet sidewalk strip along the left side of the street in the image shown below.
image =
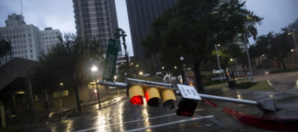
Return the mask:
[[[81,112],[91,112],[94,110],[98,110],[119,101],[127,99],[125,93],[110,95],[101,98],[100,104],[101,107],[98,106],[98,101],[90,101],[81,103]],[[38,125],[44,125],[48,123],[56,122],[58,119],[67,118],[68,116],[74,116],[80,114],[77,111],[76,105],[62,107],[62,114],[60,112],[60,108],[50,108],[43,110],[35,110],[34,116],[30,117],[28,113],[22,113],[17,115],[12,115],[12,117],[6,117],[6,126],[19,126],[19,127],[36,127]]]

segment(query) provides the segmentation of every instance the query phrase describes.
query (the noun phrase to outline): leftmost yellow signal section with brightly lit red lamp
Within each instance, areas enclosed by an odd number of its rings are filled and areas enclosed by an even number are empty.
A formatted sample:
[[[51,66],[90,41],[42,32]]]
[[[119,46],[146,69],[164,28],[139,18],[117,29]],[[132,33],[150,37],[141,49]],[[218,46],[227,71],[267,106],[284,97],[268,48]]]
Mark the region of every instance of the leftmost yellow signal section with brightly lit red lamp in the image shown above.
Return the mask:
[[[144,90],[140,85],[133,85],[129,88],[129,101],[132,104],[142,105],[144,97]]]

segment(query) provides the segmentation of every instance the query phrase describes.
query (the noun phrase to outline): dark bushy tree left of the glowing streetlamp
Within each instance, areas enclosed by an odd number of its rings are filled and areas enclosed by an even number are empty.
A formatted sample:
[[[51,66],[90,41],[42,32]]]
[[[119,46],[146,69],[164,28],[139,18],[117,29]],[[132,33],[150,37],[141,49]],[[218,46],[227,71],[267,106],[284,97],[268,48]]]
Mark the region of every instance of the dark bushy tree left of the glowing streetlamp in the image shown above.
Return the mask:
[[[57,85],[63,82],[65,87],[75,91],[77,110],[81,112],[78,85],[93,80],[91,65],[98,66],[102,59],[99,39],[93,37],[83,41],[75,34],[66,33],[64,40],[59,37],[59,41],[49,48],[47,54],[41,53],[38,64],[32,67],[32,87],[36,91],[55,91]]]

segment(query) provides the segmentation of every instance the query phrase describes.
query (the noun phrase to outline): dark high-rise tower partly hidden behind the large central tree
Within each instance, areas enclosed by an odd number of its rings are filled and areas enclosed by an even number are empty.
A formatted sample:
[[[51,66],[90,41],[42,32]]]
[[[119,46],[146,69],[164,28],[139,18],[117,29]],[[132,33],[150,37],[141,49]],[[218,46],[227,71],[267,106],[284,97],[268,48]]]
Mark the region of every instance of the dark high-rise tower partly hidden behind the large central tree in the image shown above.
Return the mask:
[[[160,16],[165,9],[172,7],[176,1],[177,0],[126,0],[133,54],[136,61],[145,65],[147,64],[140,39],[144,38],[147,33],[150,33],[153,19]],[[153,55],[152,58],[157,62],[157,65],[155,65],[156,70],[161,68],[157,56]]]

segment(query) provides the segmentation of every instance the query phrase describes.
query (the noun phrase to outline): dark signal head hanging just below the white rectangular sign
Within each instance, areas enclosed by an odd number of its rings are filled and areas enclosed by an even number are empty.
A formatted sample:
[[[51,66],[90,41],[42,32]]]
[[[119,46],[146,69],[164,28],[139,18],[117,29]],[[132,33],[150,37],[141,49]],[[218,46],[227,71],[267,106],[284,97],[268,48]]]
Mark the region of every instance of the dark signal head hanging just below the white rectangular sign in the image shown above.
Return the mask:
[[[181,97],[176,108],[176,114],[179,116],[191,117],[194,113],[196,106],[197,101],[195,101],[194,99]]]

